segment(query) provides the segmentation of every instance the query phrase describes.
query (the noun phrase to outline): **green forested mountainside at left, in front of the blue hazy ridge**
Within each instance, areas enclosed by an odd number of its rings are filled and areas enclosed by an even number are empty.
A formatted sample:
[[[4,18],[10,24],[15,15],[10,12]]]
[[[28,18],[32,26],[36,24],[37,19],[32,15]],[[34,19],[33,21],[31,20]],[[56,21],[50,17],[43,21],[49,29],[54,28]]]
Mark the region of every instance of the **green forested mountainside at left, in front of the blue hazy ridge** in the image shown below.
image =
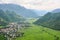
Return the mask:
[[[5,26],[9,22],[18,22],[24,20],[20,15],[17,15],[14,11],[3,11],[0,9],[0,26]]]

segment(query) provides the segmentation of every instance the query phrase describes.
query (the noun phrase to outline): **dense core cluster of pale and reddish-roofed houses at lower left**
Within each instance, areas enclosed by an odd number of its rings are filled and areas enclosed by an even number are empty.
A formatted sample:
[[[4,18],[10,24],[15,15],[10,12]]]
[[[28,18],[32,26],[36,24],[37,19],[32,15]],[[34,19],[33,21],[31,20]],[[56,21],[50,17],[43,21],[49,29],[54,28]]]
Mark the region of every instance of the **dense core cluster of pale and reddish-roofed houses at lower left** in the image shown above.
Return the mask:
[[[9,38],[16,38],[18,36],[23,36],[24,33],[18,32],[21,26],[18,25],[17,23],[10,23],[7,26],[8,27],[0,28],[0,33],[4,34],[5,37],[7,37],[7,40],[10,40]]]

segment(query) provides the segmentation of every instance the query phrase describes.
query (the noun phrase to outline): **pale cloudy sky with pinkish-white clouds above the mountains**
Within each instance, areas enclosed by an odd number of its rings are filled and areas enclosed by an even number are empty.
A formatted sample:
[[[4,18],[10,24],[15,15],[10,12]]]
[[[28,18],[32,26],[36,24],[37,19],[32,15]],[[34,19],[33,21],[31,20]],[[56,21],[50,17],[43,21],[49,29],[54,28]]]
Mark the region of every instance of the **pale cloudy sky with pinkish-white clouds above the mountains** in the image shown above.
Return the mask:
[[[60,0],[0,0],[0,3],[14,3],[29,9],[53,10],[60,8]]]

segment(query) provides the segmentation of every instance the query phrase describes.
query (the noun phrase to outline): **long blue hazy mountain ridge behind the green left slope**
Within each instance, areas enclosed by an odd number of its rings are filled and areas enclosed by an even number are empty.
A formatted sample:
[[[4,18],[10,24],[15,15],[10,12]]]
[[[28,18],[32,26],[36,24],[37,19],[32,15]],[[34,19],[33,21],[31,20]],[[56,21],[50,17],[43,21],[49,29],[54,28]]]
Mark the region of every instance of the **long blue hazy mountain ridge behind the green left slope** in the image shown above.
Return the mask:
[[[14,11],[25,18],[36,18],[38,15],[30,9],[26,9],[16,4],[0,4],[0,9]]]

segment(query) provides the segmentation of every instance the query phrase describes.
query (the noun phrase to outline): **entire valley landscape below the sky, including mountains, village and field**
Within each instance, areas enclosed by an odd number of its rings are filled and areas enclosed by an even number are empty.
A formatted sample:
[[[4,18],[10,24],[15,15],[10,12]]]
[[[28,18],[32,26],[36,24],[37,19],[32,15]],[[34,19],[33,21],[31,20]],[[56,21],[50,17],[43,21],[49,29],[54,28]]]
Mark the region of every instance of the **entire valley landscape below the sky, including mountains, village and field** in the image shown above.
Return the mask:
[[[0,4],[0,40],[60,40],[60,9]]]

